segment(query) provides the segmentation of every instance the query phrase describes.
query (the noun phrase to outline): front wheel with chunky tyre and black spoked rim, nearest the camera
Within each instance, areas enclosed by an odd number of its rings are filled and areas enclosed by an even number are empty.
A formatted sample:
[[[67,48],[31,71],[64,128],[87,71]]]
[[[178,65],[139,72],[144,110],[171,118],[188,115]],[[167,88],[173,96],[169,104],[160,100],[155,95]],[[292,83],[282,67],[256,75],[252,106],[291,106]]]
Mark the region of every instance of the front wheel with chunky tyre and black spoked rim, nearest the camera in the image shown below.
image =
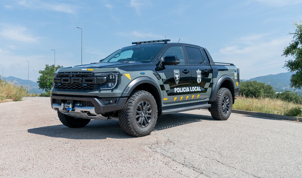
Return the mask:
[[[149,135],[156,124],[157,105],[153,95],[144,90],[134,90],[119,111],[120,127],[128,135]],[[149,123],[148,123],[149,122]]]

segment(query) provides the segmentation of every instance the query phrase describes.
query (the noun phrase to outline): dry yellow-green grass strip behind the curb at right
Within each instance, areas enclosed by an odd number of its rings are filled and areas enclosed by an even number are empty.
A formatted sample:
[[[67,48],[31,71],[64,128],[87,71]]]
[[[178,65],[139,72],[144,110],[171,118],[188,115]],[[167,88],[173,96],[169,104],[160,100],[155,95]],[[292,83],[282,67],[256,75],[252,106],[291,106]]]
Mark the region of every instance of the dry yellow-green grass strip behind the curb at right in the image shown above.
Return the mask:
[[[301,104],[294,104],[292,102],[270,98],[253,98],[245,96],[237,96],[236,98],[233,109],[297,117],[301,116],[301,113],[299,114],[299,108],[302,107]]]

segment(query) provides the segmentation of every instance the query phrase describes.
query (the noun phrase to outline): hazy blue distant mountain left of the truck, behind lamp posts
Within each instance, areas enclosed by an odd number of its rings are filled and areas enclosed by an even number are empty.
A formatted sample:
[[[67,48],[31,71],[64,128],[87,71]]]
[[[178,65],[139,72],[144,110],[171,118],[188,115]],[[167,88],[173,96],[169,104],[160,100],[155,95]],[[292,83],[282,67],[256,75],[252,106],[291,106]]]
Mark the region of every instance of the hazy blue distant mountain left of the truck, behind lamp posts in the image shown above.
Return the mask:
[[[14,85],[17,85],[17,86],[23,86],[26,89],[28,87],[28,80],[19,79],[19,78],[12,77],[12,76],[4,77],[4,80],[6,80],[7,82],[14,83]],[[29,93],[30,94],[33,94],[33,93],[40,94],[40,93],[44,93],[44,90],[39,89],[38,83],[30,80],[29,81]]]

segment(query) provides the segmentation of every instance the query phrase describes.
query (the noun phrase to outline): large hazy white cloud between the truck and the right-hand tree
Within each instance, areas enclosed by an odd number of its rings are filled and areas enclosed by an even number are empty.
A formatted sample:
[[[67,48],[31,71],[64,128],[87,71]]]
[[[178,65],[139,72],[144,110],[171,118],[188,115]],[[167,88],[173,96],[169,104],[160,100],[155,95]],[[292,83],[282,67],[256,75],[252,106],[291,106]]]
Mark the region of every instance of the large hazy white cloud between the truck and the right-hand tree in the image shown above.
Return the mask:
[[[287,72],[283,66],[289,59],[281,54],[291,40],[290,35],[271,39],[270,34],[247,34],[220,49],[220,54],[213,54],[214,61],[234,63],[241,79]]]

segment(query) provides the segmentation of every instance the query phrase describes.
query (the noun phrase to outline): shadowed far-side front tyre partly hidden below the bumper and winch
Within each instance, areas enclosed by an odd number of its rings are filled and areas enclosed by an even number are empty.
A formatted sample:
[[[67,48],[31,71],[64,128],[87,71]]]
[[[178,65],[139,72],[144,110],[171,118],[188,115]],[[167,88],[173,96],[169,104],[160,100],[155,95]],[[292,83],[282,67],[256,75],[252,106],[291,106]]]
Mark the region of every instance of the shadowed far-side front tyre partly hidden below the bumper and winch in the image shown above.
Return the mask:
[[[59,111],[58,116],[62,124],[70,128],[81,128],[90,122],[90,119],[74,118]]]

